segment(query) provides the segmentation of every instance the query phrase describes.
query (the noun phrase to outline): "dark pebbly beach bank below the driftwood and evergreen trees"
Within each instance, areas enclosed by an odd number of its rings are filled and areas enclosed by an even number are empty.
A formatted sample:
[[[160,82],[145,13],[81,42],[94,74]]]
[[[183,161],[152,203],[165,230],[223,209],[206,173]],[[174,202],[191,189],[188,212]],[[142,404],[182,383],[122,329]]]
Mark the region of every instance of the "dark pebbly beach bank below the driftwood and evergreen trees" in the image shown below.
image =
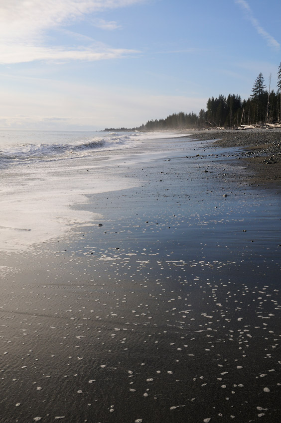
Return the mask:
[[[241,147],[238,159],[253,171],[251,185],[281,186],[281,128],[209,129],[200,130],[192,137],[214,139],[218,147]]]

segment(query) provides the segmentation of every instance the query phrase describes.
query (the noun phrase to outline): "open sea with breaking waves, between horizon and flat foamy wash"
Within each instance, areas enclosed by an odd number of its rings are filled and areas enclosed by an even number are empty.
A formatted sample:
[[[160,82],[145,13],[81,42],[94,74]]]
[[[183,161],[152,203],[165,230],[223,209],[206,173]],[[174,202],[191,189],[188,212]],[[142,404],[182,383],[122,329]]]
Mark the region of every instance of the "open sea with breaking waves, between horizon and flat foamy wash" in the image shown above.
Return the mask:
[[[163,132],[9,132],[0,139],[0,168],[42,160],[84,157],[98,150],[134,147],[146,139],[173,138]],[[38,138],[40,142],[38,142]],[[24,142],[22,142],[24,141]],[[30,142],[28,142],[30,141]],[[5,142],[5,144],[4,144]]]

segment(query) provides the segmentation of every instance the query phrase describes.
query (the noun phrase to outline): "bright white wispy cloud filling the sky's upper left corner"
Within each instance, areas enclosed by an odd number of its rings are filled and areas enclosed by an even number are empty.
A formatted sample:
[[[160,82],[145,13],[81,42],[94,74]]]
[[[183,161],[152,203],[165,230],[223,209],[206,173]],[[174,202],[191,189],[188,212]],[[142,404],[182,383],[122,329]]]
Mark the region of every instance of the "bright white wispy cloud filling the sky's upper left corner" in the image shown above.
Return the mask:
[[[103,60],[123,57],[133,50],[96,50],[94,46],[69,49],[46,46],[46,34],[83,21],[90,13],[129,6],[144,0],[0,0],[0,63],[34,60]],[[118,24],[97,19],[94,26],[116,29]],[[136,51],[134,51],[136,52]]]

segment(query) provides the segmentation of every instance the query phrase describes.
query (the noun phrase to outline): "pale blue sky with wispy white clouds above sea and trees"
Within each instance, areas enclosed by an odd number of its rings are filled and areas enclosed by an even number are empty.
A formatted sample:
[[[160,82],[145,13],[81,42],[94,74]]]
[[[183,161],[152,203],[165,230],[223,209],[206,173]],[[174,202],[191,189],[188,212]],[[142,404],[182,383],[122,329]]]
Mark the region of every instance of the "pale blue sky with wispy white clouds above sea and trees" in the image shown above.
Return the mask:
[[[280,63],[280,0],[0,0],[0,129],[198,113]]]

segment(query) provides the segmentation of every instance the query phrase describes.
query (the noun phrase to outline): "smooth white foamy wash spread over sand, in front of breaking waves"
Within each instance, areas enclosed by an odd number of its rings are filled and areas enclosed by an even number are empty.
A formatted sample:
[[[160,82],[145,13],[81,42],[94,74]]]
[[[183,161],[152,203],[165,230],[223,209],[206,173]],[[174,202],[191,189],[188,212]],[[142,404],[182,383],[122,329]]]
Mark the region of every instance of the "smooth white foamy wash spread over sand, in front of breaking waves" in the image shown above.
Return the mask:
[[[88,161],[87,161],[88,162]],[[138,182],[114,178],[76,160],[32,164],[3,172],[0,249],[22,250],[63,236],[75,225],[97,224],[100,213],[75,209],[87,195],[122,190]]]

